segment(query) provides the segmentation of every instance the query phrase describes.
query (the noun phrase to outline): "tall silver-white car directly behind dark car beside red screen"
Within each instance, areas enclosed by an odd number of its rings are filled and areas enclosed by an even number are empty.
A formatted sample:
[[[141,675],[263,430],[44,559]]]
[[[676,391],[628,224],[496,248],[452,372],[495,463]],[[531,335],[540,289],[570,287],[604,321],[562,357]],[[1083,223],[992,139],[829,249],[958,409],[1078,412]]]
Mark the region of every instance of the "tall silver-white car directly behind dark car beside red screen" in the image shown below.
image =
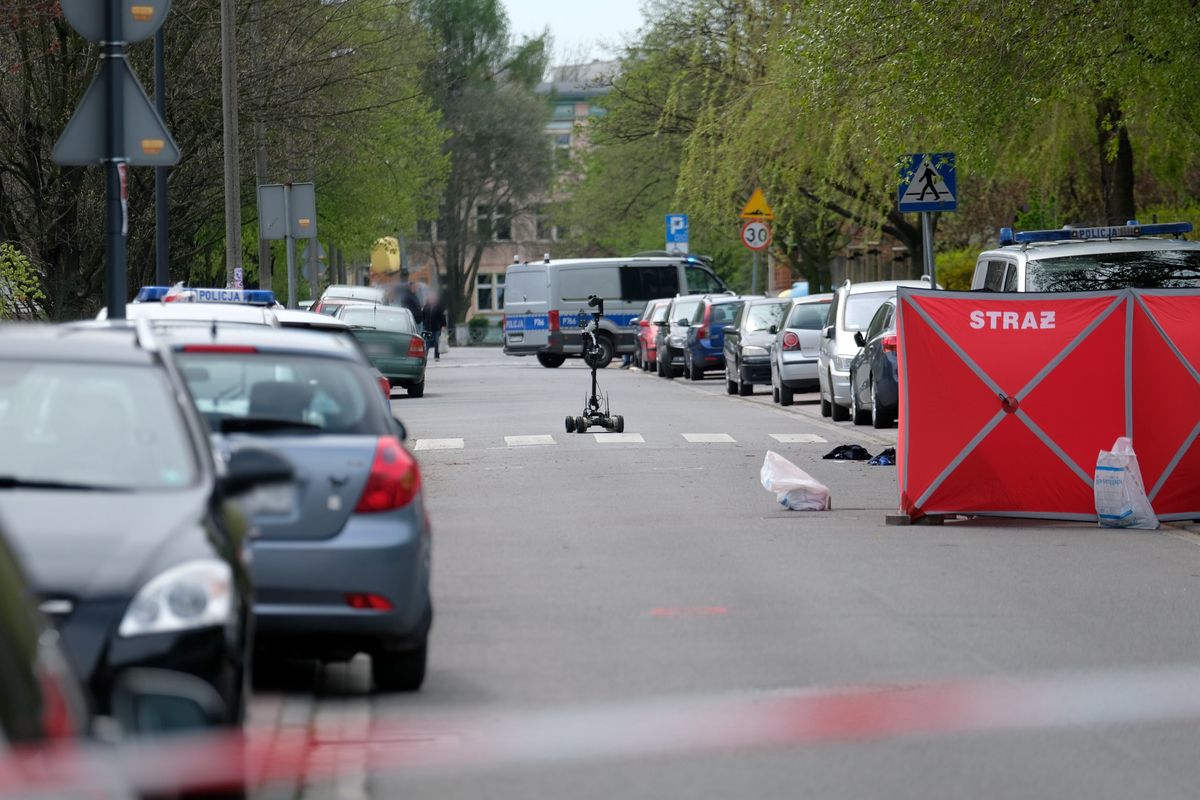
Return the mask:
[[[829,317],[821,331],[821,353],[817,356],[817,379],[821,392],[821,415],[834,420],[850,419],[850,362],[858,355],[854,333],[866,330],[875,312],[898,287],[929,289],[922,281],[872,281],[838,287],[829,303]]]

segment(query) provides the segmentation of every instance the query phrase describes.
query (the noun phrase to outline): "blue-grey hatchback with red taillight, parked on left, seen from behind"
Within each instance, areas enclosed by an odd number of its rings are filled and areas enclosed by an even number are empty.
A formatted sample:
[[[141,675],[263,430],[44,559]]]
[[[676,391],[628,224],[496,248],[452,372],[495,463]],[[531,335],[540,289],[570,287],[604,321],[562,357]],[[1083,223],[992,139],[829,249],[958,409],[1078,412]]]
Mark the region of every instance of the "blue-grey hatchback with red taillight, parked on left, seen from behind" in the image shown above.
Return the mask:
[[[421,475],[358,348],[248,327],[181,330],[170,345],[214,432],[296,468],[295,492],[251,519],[262,655],[367,652],[379,688],[419,688],[433,620]]]

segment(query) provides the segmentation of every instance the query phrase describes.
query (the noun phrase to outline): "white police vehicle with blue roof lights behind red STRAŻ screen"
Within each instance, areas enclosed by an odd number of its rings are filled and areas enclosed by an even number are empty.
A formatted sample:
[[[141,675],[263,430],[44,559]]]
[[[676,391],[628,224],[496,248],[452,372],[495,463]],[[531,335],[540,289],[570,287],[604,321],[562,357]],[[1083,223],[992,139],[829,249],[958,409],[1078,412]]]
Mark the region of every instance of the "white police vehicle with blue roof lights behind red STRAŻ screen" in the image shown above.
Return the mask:
[[[1013,231],[979,255],[973,290],[1098,291],[1200,288],[1200,242],[1190,222]],[[1174,236],[1171,239],[1170,236]]]

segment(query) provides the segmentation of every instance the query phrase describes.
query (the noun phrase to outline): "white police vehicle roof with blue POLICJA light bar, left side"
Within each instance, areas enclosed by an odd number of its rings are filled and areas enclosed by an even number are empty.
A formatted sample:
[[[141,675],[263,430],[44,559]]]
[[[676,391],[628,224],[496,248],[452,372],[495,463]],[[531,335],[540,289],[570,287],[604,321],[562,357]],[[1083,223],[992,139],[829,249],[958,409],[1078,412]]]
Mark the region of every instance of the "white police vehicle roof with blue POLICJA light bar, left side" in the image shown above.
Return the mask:
[[[157,326],[220,323],[222,325],[269,325],[278,327],[275,315],[282,306],[268,289],[218,289],[182,284],[142,287],[133,302],[125,306],[127,319],[145,319]],[[102,308],[96,319],[108,319]]]

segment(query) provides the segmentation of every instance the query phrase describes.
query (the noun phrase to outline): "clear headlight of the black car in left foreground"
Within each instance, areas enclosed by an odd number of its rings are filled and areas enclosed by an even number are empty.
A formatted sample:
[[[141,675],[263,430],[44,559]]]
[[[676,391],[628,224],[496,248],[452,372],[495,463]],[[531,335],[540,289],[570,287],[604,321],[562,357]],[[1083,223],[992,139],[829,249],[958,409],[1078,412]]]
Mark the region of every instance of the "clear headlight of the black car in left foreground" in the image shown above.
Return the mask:
[[[224,561],[187,561],[151,578],[125,610],[124,637],[224,625],[233,610],[233,572]]]

